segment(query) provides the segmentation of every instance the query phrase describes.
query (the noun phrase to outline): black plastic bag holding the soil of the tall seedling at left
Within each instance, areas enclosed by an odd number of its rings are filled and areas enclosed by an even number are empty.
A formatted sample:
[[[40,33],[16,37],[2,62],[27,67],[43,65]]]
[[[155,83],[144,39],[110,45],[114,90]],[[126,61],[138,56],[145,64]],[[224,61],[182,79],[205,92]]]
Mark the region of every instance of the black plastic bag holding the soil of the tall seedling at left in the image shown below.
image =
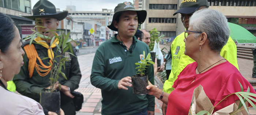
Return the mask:
[[[60,91],[55,90],[50,93],[49,89],[43,89],[40,95],[40,104],[44,108],[45,115],[48,115],[48,111],[60,115]]]

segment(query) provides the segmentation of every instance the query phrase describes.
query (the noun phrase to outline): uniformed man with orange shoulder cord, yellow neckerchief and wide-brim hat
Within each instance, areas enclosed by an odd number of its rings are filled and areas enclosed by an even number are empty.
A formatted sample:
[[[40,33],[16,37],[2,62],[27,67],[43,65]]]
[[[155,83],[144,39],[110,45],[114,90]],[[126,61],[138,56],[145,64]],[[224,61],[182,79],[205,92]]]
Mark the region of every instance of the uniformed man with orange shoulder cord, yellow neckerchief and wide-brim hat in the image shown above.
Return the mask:
[[[53,38],[55,35],[57,35],[56,30],[59,26],[59,21],[65,19],[67,15],[67,11],[57,13],[55,6],[48,0],[39,0],[33,7],[33,16],[23,17],[35,20],[35,25],[44,26],[38,26],[37,31],[41,32],[44,36]],[[57,39],[58,38],[55,38],[54,42]],[[43,58],[51,57],[49,54],[53,54],[53,52],[56,52],[58,48],[53,45],[47,46],[48,48],[46,48],[46,45],[36,44],[34,42],[41,42],[49,45],[50,40],[37,36],[31,46],[29,45],[29,41],[22,45],[22,48],[25,51],[25,55],[23,56],[24,66],[21,67],[20,73],[15,75],[13,81],[15,82],[17,88],[16,90],[20,94],[28,96],[39,102],[40,91],[42,89],[50,88],[49,71],[51,68],[49,63],[51,60],[49,58]],[[55,43],[58,44],[59,42],[57,41]],[[34,48],[32,46],[34,46]],[[27,48],[30,49],[27,50]],[[60,55],[60,52],[56,53],[57,54],[54,53],[54,59],[59,62],[60,60],[59,58],[56,58],[56,56]],[[37,58],[34,59],[31,57]],[[79,87],[82,75],[77,57],[72,56],[67,52],[65,53],[65,57],[68,57],[70,61],[66,61],[65,69],[61,70],[66,75],[67,79],[65,79],[62,75],[59,75],[60,77],[58,79],[61,85],[60,106],[65,115],[75,115],[75,105],[72,99],[74,96],[71,94],[71,92]]]

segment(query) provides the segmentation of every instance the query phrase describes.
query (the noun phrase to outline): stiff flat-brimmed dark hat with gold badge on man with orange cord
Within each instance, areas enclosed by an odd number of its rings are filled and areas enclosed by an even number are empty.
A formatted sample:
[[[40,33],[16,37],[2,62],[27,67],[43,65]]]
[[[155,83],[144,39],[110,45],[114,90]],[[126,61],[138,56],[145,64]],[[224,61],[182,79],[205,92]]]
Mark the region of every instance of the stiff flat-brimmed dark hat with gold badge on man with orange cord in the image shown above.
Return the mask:
[[[39,0],[33,7],[33,16],[23,16],[31,20],[35,18],[56,18],[57,20],[63,20],[67,17],[68,11],[56,12],[55,6],[48,0]],[[22,16],[22,15],[20,15]]]

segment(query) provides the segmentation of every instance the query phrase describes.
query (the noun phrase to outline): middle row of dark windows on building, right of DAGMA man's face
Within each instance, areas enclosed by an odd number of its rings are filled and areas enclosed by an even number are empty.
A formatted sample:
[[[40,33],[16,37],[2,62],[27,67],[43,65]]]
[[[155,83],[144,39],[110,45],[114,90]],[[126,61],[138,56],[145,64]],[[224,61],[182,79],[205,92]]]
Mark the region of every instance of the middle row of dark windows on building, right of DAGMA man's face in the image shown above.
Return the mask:
[[[176,23],[176,18],[148,18],[148,23]]]

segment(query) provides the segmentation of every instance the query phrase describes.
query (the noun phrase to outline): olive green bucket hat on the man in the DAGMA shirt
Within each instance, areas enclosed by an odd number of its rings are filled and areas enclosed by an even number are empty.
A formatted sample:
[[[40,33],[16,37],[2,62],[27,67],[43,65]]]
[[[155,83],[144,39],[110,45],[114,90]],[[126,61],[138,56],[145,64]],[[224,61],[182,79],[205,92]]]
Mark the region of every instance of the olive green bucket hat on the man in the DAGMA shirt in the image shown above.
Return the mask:
[[[136,11],[138,15],[138,23],[142,24],[147,17],[147,11],[145,10],[136,10],[131,2],[120,3],[114,9],[114,16],[108,28],[114,31],[118,31],[118,29],[114,26],[113,21],[116,20],[117,16],[124,11]]]

